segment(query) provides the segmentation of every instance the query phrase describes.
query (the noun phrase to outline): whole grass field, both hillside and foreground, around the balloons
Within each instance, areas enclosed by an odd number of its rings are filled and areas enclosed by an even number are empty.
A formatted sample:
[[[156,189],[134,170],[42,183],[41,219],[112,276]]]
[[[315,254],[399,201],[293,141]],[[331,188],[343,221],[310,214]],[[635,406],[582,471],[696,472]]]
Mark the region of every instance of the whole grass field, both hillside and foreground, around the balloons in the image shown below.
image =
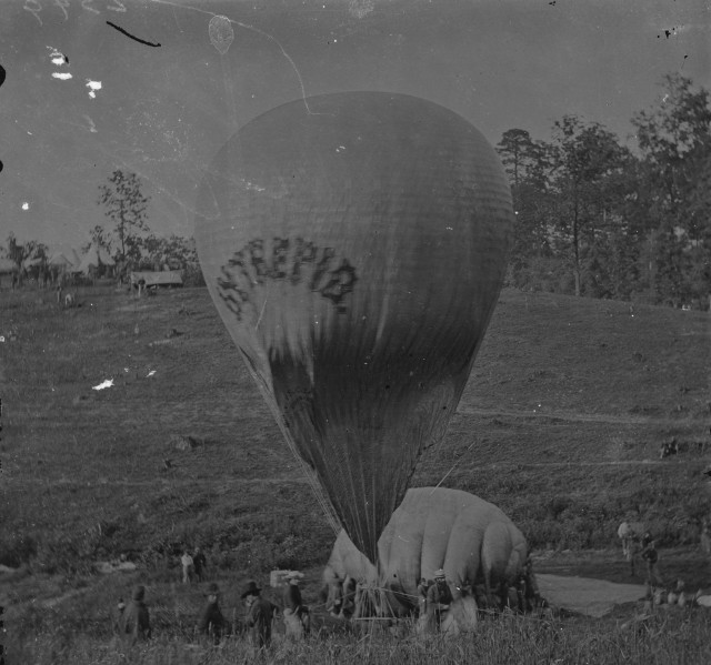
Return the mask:
[[[180,547],[203,546],[230,614],[247,580],[282,566],[308,573],[317,605],[333,534],[207,290],[134,300],[92,288],[79,302],[0,293],[0,564],[19,567],[0,577],[8,658],[119,662],[109,611],[140,580],[162,646],[131,662],[242,661],[240,641],[188,648],[201,596],[174,584]],[[449,433],[413,484],[444,478],[501,506],[539,571],[628,582],[615,532],[631,517],[658,534],[665,578],[711,584],[698,547],[711,515],[710,326],[702,312],[504,290]],[[111,387],[92,390],[107,379]],[[199,445],[177,450],[186,435]],[[660,461],[672,436],[682,451]],[[137,573],[93,572],[120,554]],[[454,645],[329,632],[298,647],[310,653],[270,657],[354,663],[369,648],[373,663],[711,662],[699,614],[627,631],[622,618],[483,622],[474,642]]]

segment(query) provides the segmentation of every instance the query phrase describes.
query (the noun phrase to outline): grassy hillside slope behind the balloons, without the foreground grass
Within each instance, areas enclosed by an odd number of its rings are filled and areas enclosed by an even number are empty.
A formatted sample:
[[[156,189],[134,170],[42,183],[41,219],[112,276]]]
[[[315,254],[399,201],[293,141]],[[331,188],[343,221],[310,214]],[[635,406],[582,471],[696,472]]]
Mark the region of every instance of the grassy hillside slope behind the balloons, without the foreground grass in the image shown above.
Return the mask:
[[[37,292],[1,298],[0,563],[33,550],[51,567],[103,551],[159,555],[186,538],[236,547],[289,535],[294,557],[318,556],[298,536],[324,544],[328,527],[206,290],[140,301],[89,290],[72,310]],[[449,474],[445,485],[501,505],[539,547],[610,545],[629,512],[662,544],[695,541],[711,505],[708,453],[658,457],[671,436],[711,443],[709,322],[504,291],[414,484]],[[114,385],[92,390],[106,379]],[[201,445],[178,451],[173,435]]]

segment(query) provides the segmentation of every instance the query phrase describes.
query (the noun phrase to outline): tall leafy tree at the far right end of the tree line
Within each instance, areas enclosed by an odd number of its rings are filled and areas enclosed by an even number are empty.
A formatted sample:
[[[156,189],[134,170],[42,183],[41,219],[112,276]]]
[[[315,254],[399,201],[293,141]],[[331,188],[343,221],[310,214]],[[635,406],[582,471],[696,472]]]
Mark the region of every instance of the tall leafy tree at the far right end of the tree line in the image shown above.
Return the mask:
[[[643,178],[637,215],[647,233],[650,295],[674,304],[711,290],[709,92],[669,74],[655,105],[632,119]]]

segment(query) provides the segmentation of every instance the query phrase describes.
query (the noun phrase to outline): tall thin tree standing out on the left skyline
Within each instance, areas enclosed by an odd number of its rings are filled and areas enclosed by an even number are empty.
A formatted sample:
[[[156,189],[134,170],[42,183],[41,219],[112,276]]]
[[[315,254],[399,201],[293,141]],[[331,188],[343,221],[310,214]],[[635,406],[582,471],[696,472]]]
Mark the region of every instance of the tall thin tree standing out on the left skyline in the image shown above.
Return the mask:
[[[109,178],[109,183],[99,185],[98,203],[107,208],[107,216],[116,224],[120,260],[138,261],[141,256],[139,232],[149,231],[146,210],[150,199],[143,195],[141,181],[136,173],[117,169]]]

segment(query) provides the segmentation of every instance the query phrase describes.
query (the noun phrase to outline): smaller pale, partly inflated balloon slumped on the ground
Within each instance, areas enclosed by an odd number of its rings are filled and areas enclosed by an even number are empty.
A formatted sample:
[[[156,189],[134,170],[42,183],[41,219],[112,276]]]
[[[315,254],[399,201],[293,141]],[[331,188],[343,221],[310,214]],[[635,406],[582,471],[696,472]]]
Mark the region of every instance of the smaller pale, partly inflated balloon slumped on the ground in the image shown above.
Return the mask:
[[[359,556],[360,555],[360,556]],[[332,583],[346,576],[387,591],[393,614],[417,607],[420,578],[443,568],[457,590],[481,584],[487,594],[515,583],[523,572],[528,545],[523,534],[495,505],[461,490],[408,490],[378,543],[371,564],[341,532],[323,571]]]

